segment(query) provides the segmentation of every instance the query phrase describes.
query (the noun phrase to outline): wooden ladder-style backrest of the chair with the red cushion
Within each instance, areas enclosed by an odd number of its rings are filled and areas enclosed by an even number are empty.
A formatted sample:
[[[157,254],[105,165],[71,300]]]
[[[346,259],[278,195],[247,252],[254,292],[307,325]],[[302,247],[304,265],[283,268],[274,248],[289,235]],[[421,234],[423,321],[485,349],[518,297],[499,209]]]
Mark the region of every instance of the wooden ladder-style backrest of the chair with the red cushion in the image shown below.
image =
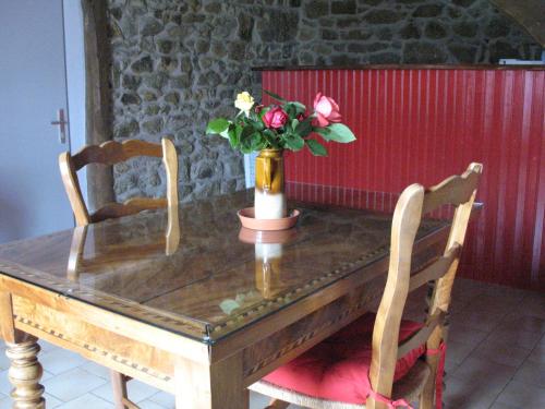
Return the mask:
[[[423,344],[428,349],[436,349],[443,339],[443,321],[450,303],[450,292],[482,169],[481,164],[471,164],[462,176],[450,177],[428,190],[421,184],[412,184],[399,197],[391,227],[388,278],[373,330],[370,369],[373,390],[383,396],[391,397],[396,362],[400,357]],[[411,275],[414,240],[422,216],[449,204],[456,206],[456,210],[445,252]],[[416,334],[398,345],[408,293],[428,281],[436,282],[426,323]],[[367,400],[368,408],[380,405],[373,398]]]

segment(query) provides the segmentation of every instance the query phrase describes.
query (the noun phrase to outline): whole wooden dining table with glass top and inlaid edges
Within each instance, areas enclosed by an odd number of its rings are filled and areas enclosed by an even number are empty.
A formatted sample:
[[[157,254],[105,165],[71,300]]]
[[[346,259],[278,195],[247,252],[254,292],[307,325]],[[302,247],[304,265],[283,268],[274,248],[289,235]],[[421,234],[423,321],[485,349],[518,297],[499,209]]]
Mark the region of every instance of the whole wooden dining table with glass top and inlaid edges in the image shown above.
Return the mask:
[[[241,231],[250,192],[0,245],[0,323],[14,408],[44,407],[37,338],[175,394],[178,408],[245,409],[246,386],[380,298],[391,216],[296,203],[279,236]],[[444,245],[427,220],[420,262]],[[170,254],[166,254],[170,253]]]

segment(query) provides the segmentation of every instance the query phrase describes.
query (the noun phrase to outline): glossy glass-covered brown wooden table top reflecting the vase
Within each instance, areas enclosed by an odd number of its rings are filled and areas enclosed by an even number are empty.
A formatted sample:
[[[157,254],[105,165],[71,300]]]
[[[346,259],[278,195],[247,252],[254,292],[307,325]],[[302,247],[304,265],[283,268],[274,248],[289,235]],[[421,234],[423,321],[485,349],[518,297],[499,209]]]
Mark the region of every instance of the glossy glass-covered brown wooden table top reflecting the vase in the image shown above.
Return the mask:
[[[244,191],[0,245],[0,273],[202,341],[214,341],[388,254],[391,215],[290,203],[295,228],[241,228]],[[445,226],[426,220],[422,238]],[[169,250],[170,249],[170,250]]]

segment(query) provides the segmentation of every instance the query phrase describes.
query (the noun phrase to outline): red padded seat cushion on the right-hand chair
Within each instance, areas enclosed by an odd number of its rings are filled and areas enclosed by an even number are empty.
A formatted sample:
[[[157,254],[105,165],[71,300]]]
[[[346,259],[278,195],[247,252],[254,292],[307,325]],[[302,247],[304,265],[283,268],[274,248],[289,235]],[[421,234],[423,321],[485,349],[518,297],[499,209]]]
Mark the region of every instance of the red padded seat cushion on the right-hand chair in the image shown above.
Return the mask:
[[[375,314],[365,314],[302,356],[264,377],[274,385],[316,398],[365,404],[371,390],[371,340]],[[422,324],[402,321],[399,339],[422,328]],[[395,381],[403,377],[425,352],[425,345],[398,360]]]

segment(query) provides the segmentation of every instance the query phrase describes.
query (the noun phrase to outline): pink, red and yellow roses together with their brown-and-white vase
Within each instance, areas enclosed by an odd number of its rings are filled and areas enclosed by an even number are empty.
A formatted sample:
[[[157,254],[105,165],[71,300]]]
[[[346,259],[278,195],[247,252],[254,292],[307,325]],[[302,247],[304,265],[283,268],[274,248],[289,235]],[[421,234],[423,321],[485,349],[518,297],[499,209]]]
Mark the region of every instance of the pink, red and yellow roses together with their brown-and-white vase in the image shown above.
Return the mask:
[[[254,217],[279,219],[287,216],[283,151],[299,152],[306,146],[315,156],[327,156],[327,149],[318,139],[349,143],[355,141],[355,136],[341,123],[337,103],[322,93],[316,95],[313,111],[308,112],[299,101],[264,92],[277,103],[258,105],[247,92],[243,92],[234,101],[239,109],[237,116],[233,119],[213,119],[206,133],[229,140],[231,147],[243,154],[259,152],[255,163]]]

